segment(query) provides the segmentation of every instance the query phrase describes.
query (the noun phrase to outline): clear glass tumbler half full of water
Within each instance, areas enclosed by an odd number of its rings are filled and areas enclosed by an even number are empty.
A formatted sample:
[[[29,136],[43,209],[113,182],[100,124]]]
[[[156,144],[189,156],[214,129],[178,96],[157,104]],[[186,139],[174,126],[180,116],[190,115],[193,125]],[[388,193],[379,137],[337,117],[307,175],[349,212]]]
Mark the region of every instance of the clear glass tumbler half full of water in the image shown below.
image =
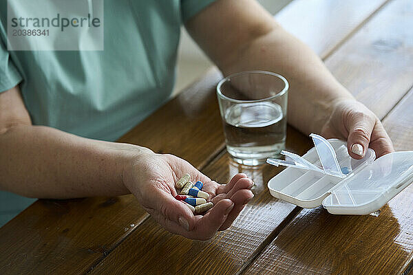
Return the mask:
[[[217,86],[226,150],[239,164],[259,165],[285,147],[288,82],[273,72],[249,71]]]

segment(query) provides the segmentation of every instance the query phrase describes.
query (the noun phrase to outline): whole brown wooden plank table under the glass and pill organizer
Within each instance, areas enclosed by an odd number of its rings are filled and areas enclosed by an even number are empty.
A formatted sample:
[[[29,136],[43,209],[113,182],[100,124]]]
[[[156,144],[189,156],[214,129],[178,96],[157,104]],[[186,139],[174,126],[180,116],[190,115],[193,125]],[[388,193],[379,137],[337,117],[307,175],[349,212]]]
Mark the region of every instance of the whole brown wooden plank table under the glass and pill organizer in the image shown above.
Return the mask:
[[[413,148],[413,2],[295,0],[277,20],[313,47],[385,125],[396,150]],[[131,195],[39,200],[0,229],[0,274],[413,274],[413,185],[378,217],[335,216],[271,197],[281,168],[228,157],[215,98],[202,79],[120,139],[173,153],[226,182],[255,181],[254,199],[209,241],[163,230]],[[310,140],[289,127],[287,149]]]

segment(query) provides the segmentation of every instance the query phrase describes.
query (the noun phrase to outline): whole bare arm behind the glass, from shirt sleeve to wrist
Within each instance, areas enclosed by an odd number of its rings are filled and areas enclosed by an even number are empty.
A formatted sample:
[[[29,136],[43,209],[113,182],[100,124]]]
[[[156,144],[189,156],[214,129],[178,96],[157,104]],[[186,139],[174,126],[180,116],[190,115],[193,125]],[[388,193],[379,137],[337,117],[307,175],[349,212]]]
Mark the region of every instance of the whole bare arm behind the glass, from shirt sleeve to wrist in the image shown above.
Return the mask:
[[[352,98],[320,58],[257,1],[218,0],[186,27],[226,76],[257,69],[285,76],[288,121],[304,133],[321,131],[337,98]]]

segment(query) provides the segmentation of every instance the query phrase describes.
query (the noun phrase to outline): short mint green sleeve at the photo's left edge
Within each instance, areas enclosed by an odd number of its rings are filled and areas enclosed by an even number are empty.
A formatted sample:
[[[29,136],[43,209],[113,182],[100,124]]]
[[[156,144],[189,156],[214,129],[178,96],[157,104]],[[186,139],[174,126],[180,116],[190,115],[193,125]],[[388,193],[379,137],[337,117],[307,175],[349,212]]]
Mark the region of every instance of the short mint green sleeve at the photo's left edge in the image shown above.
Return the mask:
[[[6,50],[3,41],[0,41],[0,93],[12,89],[21,83],[23,78],[14,65],[10,53]]]

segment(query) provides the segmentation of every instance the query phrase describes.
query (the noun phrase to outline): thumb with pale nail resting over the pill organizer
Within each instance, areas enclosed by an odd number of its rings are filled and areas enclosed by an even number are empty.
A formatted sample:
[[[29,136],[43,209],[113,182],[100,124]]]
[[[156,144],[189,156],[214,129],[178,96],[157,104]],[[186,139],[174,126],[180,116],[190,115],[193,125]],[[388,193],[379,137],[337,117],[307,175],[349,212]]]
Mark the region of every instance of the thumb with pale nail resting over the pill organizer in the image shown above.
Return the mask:
[[[361,159],[366,154],[368,144],[376,123],[375,116],[367,113],[350,113],[347,117],[348,154],[354,159]]]

